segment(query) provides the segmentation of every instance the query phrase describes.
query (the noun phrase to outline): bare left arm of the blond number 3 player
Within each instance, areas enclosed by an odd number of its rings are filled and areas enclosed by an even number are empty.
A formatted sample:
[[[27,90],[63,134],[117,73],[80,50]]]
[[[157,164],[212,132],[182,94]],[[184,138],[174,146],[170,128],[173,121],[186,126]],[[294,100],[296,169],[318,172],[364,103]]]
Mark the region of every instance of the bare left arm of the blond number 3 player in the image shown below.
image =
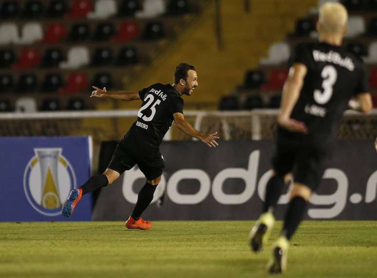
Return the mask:
[[[289,75],[284,83],[282,104],[278,115],[278,123],[281,127],[292,132],[307,133],[304,123],[291,118],[291,113],[299,99],[306,75],[307,68],[304,64],[296,63],[289,69]]]

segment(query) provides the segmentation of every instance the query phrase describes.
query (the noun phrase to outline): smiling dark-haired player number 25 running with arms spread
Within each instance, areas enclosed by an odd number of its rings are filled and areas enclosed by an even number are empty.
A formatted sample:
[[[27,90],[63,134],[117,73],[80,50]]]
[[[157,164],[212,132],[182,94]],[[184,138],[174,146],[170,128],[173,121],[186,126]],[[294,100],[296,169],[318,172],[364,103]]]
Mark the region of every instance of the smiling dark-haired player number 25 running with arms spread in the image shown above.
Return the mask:
[[[218,146],[217,132],[203,134],[195,130],[183,115],[182,95],[191,95],[198,86],[198,77],[193,66],[180,64],[174,72],[174,84],[153,84],[139,92],[117,91],[107,92],[93,87],[92,96],[117,100],[132,101],[141,99],[142,106],[137,113],[137,120],[114,150],[113,158],[102,175],[91,177],[84,185],[71,191],[68,200],[63,204],[62,215],[70,217],[82,195],[94,191],[101,186],[111,185],[121,173],[130,170],[137,164],[145,175],[147,182],[141,188],[132,215],[126,222],[129,229],[147,230],[152,223],[141,218],[141,214],[151,203],[156,186],[161,181],[165,167],[159,147],[165,133],[172,122],[178,129],[188,135],[200,139],[209,147]]]

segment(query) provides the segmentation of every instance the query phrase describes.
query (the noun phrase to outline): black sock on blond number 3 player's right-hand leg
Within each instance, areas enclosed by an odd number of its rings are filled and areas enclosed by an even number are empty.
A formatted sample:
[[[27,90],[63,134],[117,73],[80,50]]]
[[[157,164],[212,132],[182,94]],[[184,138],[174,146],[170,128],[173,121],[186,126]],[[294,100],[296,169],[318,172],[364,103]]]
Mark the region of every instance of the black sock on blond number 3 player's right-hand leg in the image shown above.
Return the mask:
[[[285,214],[282,235],[288,240],[291,239],[297,227],[302,221],[307,202],[299,196],[294,197],[288,204],[288,210]]]

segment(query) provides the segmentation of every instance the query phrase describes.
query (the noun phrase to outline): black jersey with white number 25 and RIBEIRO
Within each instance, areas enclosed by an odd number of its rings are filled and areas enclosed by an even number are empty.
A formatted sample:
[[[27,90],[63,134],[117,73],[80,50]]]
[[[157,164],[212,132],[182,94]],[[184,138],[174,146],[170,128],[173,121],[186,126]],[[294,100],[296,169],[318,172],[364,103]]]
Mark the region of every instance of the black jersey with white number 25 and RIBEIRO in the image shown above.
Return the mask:
[[[173,123],[173,114],[183,113],[183,99],[170,84],[153,84],[139,91],[143,104],[125,140],[140,151],[157,150]]]

